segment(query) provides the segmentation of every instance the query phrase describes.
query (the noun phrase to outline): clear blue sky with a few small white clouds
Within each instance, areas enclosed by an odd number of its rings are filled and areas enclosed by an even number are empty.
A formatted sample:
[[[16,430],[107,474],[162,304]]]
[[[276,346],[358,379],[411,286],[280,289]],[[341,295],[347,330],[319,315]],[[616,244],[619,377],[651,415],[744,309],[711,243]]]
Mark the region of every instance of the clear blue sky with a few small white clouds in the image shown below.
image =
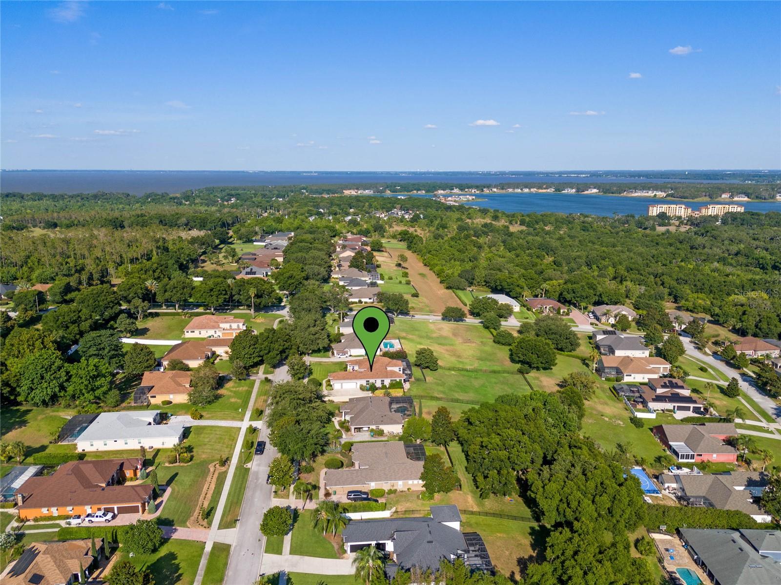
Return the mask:
[[[781,2],[2,2],[2,168],[781,168]]]

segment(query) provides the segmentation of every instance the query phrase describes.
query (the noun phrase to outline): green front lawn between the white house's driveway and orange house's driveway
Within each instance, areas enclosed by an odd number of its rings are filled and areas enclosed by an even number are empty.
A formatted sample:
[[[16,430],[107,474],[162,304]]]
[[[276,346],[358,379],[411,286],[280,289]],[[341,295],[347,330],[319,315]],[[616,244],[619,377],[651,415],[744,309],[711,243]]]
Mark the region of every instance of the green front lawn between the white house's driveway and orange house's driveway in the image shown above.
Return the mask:
[[[170,450],[161,451],[157,460],[158,480],[173,492],[159,516],[160,523],[187,526],[187,519],[198,508],[198,498],[209,476],[209,464],[234,452],[238,431],[235,427],[190,427],[185,445],[194,449],[194,459],[187,465],[167,465]]]

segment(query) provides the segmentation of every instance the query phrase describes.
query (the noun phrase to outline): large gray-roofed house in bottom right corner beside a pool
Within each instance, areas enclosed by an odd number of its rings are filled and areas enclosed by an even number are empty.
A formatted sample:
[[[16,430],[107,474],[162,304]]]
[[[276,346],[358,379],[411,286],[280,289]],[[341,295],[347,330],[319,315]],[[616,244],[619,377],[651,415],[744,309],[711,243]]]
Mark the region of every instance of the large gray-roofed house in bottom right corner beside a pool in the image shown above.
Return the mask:
[[[694,562],[719,585],[781,583],[781,532],[681,528]]]

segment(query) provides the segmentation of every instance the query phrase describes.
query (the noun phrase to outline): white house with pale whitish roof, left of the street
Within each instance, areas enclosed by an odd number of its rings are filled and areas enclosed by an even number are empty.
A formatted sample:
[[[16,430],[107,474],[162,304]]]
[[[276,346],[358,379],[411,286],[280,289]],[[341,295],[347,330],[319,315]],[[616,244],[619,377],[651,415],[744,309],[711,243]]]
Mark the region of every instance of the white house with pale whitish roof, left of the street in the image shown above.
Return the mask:
[[[159,424],[159,410],[102,413],[76,440],[77,451],[166,449],[181,442],[184,426]]]

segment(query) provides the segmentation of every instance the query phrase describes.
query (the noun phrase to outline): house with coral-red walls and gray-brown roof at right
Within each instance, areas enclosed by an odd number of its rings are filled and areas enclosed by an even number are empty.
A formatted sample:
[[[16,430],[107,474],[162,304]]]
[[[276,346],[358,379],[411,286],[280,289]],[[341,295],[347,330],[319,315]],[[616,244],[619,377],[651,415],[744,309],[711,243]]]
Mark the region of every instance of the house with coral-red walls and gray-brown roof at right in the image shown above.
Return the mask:
[[[737,436],[732,423],[660,424],[651,432],[679,463],[737,463],[737,451],[724,442]]]

